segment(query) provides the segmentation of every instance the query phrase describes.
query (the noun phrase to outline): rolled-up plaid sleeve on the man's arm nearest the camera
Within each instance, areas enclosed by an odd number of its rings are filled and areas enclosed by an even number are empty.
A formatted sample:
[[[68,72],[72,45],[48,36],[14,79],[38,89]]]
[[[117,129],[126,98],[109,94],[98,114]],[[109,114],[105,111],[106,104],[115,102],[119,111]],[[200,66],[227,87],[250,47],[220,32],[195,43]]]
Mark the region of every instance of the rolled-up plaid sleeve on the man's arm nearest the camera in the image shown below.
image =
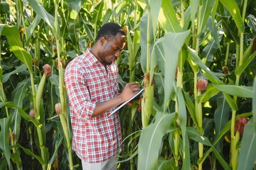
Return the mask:
[[[69,107],[72,108],[73,113],[83,120],[90,119],[94,113],[96,102],[91,101],[83,73],[77,66],[66,68],[65,85]]]

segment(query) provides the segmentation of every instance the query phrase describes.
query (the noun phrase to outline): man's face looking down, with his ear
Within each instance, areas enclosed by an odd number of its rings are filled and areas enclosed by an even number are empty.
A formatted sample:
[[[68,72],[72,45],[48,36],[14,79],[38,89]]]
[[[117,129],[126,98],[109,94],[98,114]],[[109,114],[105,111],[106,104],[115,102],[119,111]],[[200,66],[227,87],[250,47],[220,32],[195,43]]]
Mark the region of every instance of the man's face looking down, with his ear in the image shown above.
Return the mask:
[[[121,35],[121,33],[116,34],[113,38],[102,38],[99,62],[106,65],[116,61],[125,45],[126,36]]]

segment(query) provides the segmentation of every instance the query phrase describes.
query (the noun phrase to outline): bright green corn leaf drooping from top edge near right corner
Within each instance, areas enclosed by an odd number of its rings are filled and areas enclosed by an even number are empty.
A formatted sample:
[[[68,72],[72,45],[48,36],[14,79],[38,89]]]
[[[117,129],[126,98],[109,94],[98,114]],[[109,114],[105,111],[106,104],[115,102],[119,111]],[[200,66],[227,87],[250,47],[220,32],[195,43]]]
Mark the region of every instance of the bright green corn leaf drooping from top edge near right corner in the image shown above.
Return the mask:
[[[229,1],[220,0],[220,1],[221,1],[221,4],[223,4],[223,6],[225,6],[228,9],[240,33],[243,33],[245,30],[245,26],[243,23],[243,18],[240,14],[240,9],[236,1],[235,0],[229,0]]]

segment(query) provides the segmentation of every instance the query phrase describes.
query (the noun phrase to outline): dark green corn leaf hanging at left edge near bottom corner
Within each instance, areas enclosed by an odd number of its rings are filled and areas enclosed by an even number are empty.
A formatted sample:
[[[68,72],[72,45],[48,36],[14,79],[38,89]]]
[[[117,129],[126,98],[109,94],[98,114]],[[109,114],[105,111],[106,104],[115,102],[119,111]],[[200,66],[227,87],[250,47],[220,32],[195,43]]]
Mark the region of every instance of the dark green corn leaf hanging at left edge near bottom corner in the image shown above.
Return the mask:
[[[4,157],[8,162],[9,168],[11,166],[11,152],[9,146],[9,128],[11,125],[11,117],[0,119],[0,148],[4,152]]]

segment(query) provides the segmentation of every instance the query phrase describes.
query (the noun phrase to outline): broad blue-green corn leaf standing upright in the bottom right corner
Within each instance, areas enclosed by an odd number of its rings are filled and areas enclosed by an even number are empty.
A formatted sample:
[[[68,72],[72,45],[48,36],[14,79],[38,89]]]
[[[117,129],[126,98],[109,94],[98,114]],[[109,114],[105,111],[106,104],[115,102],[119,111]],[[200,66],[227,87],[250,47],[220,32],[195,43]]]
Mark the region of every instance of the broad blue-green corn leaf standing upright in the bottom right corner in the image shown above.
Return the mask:
[[[256,131],[253,120],[245,125],[238,159],[238,170],[253,169],[256,160]]]

